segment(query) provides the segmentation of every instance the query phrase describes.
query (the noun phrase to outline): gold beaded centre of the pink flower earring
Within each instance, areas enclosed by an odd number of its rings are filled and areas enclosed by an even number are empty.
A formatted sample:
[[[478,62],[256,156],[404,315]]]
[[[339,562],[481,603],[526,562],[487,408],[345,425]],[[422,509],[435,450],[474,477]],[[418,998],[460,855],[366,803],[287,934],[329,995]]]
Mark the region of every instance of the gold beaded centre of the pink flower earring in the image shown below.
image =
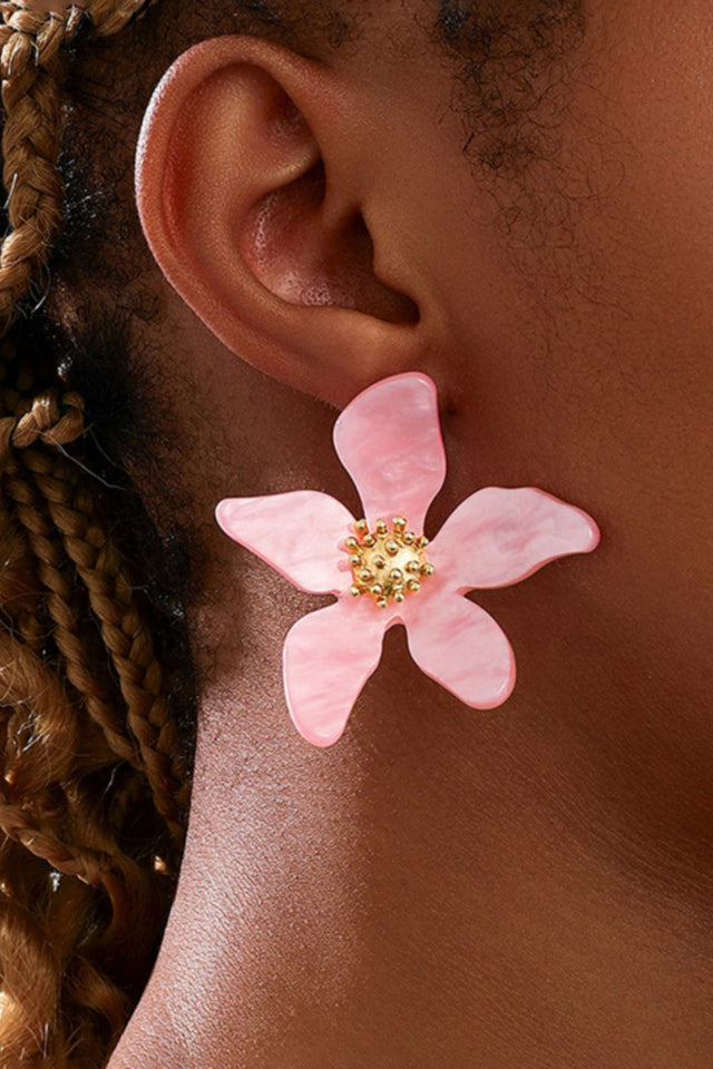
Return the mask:
[[[424,553],[428,538],[407,527],[402,516],[394,517],[391,528],[385,520],[377,520],[374,531],[369,530],[367,520],[354,523],[356,537],[350,536],[345,542],[354,598],[370,594],[379,608],[385,609],[391,600],[401,602],[407,594],[418,594],[423,579],[433,575]]]

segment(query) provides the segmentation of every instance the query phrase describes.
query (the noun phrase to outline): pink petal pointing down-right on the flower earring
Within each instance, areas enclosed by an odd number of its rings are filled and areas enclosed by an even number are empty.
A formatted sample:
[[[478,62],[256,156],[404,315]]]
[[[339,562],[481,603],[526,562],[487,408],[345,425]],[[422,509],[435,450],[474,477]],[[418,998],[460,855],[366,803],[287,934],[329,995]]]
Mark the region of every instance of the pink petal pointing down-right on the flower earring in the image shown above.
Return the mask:
[[[479,605],[443,589],[414,609],[416,598],[406,626],[421,670],[472,708],[502,705],[515,686],[515,657],[499,624]]]

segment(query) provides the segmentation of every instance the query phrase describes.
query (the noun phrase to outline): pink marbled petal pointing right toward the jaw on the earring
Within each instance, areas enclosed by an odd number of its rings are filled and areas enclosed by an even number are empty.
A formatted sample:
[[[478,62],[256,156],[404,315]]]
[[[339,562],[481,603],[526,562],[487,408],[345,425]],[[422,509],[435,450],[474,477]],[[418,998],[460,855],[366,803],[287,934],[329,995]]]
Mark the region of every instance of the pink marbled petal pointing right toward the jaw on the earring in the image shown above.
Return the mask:
[[[599,530],[586,512],[521,487],[487,487],[467,498],[428,548],[437,573],[463,591],[518,582],[567,553],[587,553]]]

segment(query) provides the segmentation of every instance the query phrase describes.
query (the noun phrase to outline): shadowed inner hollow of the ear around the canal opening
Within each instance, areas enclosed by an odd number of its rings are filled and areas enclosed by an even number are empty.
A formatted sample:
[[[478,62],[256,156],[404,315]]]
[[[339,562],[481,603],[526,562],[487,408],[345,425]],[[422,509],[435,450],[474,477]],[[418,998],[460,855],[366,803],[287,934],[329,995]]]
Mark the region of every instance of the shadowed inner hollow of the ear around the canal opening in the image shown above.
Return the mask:
[[[417,304],[374,274],[373,242],[361,212],[328,225],[326,196],[320,159],[256,202],[238,235],[241,255],[255,277],[286,304],[353,308],[389,323],[418,323]]]

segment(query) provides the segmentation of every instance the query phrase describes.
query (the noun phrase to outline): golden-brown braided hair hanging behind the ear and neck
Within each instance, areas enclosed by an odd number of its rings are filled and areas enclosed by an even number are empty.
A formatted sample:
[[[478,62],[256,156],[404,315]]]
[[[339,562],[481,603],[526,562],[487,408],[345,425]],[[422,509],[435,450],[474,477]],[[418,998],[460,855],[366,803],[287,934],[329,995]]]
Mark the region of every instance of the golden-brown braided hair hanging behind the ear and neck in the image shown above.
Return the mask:
[[[188,757],[108,494],[31,304],[61,222],[66,46],[144,0],[0,3],[0,1065],[104,1065],[173,895]]]

